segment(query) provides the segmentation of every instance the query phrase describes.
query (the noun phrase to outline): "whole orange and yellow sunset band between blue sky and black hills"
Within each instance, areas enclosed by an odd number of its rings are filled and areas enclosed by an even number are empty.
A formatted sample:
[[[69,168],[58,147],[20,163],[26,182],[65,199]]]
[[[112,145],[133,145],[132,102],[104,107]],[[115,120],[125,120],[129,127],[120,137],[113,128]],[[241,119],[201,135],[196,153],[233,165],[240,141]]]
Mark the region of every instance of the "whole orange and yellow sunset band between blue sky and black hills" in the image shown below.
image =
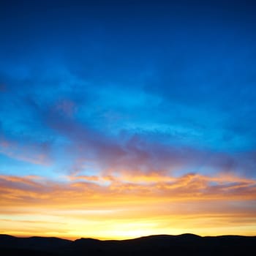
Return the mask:
[[[15,236],[256,235],[256,181],[231,174],[0,176],[0,185],[0,233]]]

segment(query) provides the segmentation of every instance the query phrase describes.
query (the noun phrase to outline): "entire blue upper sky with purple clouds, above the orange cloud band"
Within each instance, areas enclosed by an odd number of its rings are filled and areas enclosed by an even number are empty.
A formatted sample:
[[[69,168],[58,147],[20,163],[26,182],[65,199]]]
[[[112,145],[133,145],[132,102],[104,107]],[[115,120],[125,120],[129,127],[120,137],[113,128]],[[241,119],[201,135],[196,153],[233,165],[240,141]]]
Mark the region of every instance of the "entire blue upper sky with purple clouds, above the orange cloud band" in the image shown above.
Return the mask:
[[[1,173],[255,177],[253,1],[1,1]]]

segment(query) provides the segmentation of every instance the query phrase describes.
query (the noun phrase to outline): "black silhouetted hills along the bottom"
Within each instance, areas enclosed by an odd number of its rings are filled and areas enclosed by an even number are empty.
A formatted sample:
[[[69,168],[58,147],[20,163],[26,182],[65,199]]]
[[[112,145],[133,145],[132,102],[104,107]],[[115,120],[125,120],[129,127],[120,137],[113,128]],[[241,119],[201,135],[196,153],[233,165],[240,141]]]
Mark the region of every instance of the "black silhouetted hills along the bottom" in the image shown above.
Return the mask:
[[[0,235],[0,255],[256,255],[256,236],[145,236],[100,241]]]

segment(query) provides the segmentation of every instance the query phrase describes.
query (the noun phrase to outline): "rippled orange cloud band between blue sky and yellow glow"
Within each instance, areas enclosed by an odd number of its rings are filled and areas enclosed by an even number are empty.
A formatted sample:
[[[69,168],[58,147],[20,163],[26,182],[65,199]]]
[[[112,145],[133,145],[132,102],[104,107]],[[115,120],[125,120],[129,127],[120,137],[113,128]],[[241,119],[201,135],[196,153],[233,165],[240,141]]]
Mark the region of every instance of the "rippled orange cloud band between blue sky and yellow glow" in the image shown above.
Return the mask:
[[[256,181],[232,174],[203,176],[188,173],[180,177],[159,175],[67,176],[58,183],[42,177],[1,176],[1,205],[34,207],[42,204],[64,207],[112,204],[121,198],[129,200],[256,200]],[[60,195],[60,196],[58,196]],[[69,199],[72,197],[72,200]],[[144,199],[143,199],[144,198]],[[127,201],[128,200],[128,201]],[[156,201],[154,201],[156,200]],[[132,201],[131,201],[132,202]],[[130,202],[130,203],[131,203]]]

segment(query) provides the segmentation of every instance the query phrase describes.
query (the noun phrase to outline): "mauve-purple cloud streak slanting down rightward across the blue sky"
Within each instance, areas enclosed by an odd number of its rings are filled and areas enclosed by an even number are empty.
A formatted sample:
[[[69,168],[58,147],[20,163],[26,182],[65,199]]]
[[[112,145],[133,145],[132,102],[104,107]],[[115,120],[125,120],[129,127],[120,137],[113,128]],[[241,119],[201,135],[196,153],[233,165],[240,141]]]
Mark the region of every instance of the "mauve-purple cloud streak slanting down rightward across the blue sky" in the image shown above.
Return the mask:
[[[65,99],[64,102],[68,102],[72,111],[77,108],[70,100]],[[83,173],[84,167],[90,163],[95,170],[103,173],[124,170],[132,173],[227,171],[253,176],[256,166],[253,151],[232,153],[200,148],[177,143],[174,135],[173,142],[170,139],[167,143],[157,140],[158,134],[145,135],[139,131],[126,130],[113,135],[109,131],[104,132],[104,124],[95,127],[89,121],[70,116],[70,113],[63,115],[63,105],[59,104],[44,108],[37,105],[37,115],[56,136],[69,141],[63,150],[65,159],[72,159],[72,165],[67,167],[70,172]],[[62,106],[61,109],[58,106]]]

